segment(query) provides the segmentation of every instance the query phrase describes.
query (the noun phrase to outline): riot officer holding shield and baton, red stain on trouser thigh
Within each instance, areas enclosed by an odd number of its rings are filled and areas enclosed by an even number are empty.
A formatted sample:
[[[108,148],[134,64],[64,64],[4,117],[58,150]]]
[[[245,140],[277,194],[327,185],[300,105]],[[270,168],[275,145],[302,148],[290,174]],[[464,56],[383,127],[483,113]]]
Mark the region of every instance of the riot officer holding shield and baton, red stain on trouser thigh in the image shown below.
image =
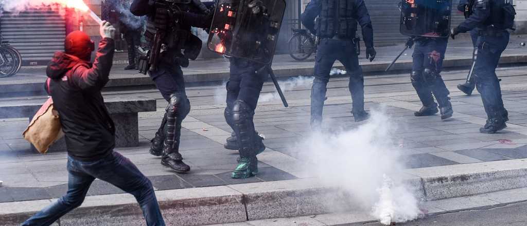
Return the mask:
[[[421,109],[414,112],[415,116],[435,115],[438,111],[441,112],[441,119],[453,115],[448,97],[450,92],[440,74],[448,44],[447,18],[450,16],[451,4],[451,1],[401,3],[404,22],[401,30],[405,34],[413,34],[406,45],[412,47],[415,43],[410,79],[423,104]]]

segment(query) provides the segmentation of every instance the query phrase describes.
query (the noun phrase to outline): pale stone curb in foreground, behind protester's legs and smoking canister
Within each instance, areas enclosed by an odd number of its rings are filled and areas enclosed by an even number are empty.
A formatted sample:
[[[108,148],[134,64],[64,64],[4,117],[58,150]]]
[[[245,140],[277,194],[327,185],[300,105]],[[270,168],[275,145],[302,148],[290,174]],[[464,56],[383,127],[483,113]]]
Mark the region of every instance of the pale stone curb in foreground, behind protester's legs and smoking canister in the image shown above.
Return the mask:
[[[450,199],[527,187],[527,160],[504,160],[405,170],[406,183],[425,200]],[[347,194],[317,179],[157,191],[167,222],[177,225],[232,223],[298,217],[352,208]],[[0,203],[0,225],[18,225],[54,200]],[[331,203],[331,206],[325,203]],[[86,197],[65,215],[67,225],[143,225],[141,210],[129,194]]]

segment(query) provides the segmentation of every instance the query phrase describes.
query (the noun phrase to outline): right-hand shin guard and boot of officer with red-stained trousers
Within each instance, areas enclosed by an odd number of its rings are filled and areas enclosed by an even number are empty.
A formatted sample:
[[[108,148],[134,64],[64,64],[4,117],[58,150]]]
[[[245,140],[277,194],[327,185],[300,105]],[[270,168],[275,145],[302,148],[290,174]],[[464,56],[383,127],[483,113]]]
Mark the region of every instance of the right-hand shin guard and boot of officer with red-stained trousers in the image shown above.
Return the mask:
[[[433,62],[433,60],[431,59]],[[435,69],[425,68],[423,71],[423,77],[428,84],[428,87],[432,90],[432,93],[439,104],[439,110],[441,111],[441,119],[447,119],[452,117],[454,111],[452,110],[452,104],[450,103],[450,92],[446,88],[443,78]]]

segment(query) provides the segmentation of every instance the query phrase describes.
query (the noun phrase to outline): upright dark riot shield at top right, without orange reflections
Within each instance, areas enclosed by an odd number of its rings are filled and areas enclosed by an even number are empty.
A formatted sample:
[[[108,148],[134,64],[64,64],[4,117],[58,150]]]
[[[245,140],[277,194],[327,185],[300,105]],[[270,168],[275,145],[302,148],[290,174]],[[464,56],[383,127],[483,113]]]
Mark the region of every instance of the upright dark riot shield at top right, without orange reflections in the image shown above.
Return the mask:
[[[401,34],[424,37],[448,37],[452,0],[403,0]]]

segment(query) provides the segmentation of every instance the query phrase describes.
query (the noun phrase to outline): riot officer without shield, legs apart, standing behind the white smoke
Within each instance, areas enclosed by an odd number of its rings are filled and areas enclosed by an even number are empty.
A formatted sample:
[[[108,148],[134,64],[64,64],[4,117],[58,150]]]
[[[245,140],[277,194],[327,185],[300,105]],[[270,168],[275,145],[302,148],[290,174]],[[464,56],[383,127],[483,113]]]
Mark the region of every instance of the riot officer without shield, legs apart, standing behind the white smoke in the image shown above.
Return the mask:
[[[357,22],[362,28],[366,57],[372,61],[376,52],[372,21],[364,0],[311,0],[301,20],[311,33],[320,38],[315,57],[315,79],[311,88],[311,128],[320,128],[329,73],[337,59],[349,73],[355,121],[367,119],[369,115],[364,110],[364,77],[358,63],[358,39],[355,38]]]

